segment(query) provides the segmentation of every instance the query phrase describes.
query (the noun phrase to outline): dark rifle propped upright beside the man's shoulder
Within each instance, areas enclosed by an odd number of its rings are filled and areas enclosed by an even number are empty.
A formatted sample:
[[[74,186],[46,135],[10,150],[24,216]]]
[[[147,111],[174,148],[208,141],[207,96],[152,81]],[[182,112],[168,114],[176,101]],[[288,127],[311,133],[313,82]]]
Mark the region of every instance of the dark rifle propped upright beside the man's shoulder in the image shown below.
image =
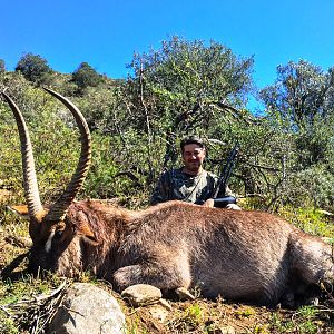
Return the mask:
[[[226,164],[224,165],[224,167],[222,169],[220,177],[214,189],[213,198],[215,200],[215,207],[225,207],[227,204],[236,203],[236,198],[233,196],[222,196],[219,198],[217,198],[217,197],[220,191],[224,191],[224,195],[225,195],[225,189],[227,187],[228,179],[229,179],[230,173],[232,173],[232,168],[234,166],[235,158],[238,154],[238,149],[239,149],[239,144],[236,143],[235,146],[233,147],[232,151],[229,153]]]

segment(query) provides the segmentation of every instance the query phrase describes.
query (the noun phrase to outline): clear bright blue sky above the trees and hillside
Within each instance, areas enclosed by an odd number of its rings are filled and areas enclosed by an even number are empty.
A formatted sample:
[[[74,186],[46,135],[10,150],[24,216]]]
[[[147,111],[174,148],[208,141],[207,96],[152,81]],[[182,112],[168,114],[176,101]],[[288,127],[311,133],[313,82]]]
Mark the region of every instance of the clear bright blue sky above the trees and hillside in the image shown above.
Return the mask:
[[[263,88],[289,60],[334,66],[333,13],[332,0],[2,0],[0,59],[13,70],[32,52],[56,71],[72,72],[87,61],[121,78],[135,51],[158,49],[177,35],[254,56],[254,79]]]

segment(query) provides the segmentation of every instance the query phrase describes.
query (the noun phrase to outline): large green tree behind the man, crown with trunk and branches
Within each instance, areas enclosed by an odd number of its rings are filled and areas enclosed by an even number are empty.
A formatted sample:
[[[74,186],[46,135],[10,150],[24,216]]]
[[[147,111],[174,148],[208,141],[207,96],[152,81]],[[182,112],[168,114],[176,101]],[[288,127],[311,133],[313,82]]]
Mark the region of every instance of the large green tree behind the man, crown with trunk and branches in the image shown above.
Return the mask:
[[[178,37],[159,50],[135,53],[125,90],[128,124],[144,129],[148,140],[165,140],[166,165],[176,138],[217,130],[233,114],[243,117],[227,106],[245,106],[252,67],[252,58],[240,59],[220,43]]]

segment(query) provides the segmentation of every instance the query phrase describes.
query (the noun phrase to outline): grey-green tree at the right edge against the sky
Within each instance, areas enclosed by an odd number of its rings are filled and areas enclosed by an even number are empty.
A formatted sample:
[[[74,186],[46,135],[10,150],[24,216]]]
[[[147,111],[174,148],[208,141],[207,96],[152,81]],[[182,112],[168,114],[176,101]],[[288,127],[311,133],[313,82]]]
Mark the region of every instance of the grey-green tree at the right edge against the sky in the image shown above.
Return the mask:
[[[295,135],[301,167],[326,160],[333,146],[334,68],[324,72],[304,60],[277,68],[273,86],[261,91],[273,119]]]

